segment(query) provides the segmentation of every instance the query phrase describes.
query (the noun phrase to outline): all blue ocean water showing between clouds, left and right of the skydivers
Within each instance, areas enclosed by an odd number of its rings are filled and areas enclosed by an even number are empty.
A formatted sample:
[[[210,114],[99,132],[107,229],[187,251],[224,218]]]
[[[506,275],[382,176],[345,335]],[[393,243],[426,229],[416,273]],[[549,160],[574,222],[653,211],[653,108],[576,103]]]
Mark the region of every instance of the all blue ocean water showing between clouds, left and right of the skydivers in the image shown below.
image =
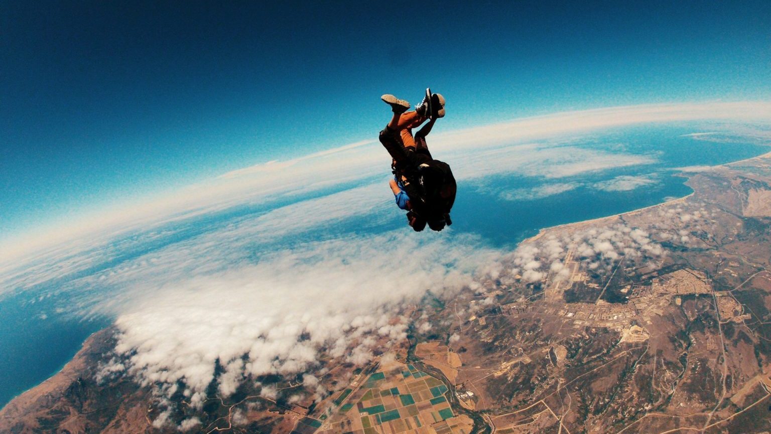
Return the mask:
[[[682,197],[691,192],[685,177],[675,176],[676,167],[716,165],[742,160],[769,151],[752,140],[730,140],[722,143],[694,140],[685,136],[694,133],[692,127],[639,127],[585,136],[578,141],[581,149],[623,152],[651,156],[655,163],[622,167],[613,170],[581,173],[573,177],[545,179],[508,175],[479,183],[460,182],[453,208],[453,227],[446,234],[478,234],[493,247],[513,248],[519,241],[537,233],[540,228],[567,224],[618,214],[659,204],[668,197]],[[650,177],[654,183],[626,191],[605,191],[595,186],[615,177]],[[545,197],[529,200],[504,200],[500,193],[507,190],[534,190],[550,183],[570,183],[574,187]],[[345,187],[345,186],[338,186]],[[384,186],[384,189],[387,188]],[[295,198],[297,200],[305,197]],[[153,238],[146,244],[133,244],[88,271],[79,275],[115,267],[124,261],[140,257],[148,251],[196,237],[212,227],[230,224],[234,219],[257,217],[272,207],[241,207],[216,216],[199,217],[178,224],[168,237]],[[359,233],[406,229],[402,213],[394,207],[394,217],[385,225],[365,219],[348,224]],[[320,229],[313,237],[334,236]],[[303,237],[307,237],[305,234]],[[266,247],[267,248],[267,247]],[[69,278],[72,278],[70,276]],[[113,318],[73,318],[59,315],[57,306],[69,302],[66,292],[56,291],[62,282],[49,282],[39,288],[0,299],[0,406],[15,395],[38,385],[68,362],[94,331],[106,327]],[[41,296],[41,294],[45,294]]]

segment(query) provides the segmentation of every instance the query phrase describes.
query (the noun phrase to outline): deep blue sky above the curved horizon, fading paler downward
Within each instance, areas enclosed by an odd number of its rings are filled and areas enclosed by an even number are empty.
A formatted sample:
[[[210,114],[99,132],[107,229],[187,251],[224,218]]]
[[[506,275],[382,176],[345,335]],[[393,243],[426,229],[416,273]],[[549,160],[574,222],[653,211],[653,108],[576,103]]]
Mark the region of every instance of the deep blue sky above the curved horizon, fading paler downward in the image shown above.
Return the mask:
[[[577,3],[0,2],[0,240],[374,138],[382,93],[447,130],[771,98],[767,0]]]

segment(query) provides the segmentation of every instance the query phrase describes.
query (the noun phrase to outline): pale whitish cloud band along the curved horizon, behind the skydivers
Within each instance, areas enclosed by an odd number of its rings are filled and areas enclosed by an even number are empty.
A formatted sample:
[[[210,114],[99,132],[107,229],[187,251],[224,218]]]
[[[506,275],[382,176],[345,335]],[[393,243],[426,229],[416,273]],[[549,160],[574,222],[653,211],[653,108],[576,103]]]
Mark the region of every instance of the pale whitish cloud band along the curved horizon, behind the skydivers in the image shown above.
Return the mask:
[[[526,116],[485,126],[435,133],[433,141],[439,143],[437,147],[441,152],[456,153],[470,148],[476,150],[485,146],[543,140],[551,136],[641,123],[732,120],[771,124],[769,119],[771,102],[767,101],[641,104]],[[345,159],[346,163],[334,160],[338,158]],[[140,224],[153,226],[224,210],[250,200],[318,191],[343,180],[361,180],[365,177],[361,173],[369,176],[372,167],[379,167],[385,176],[388,172],[385,170],[385,160],[387,157],[377,140],[359,140],[290,160],[271,160],[231,170],[179,189],[136,195],[114,207],[86,211],[77,218],[64,220],[63,224],[59,220],[57,224],[29,227],[8,234],[5,240],[0,240],[4,244],[0,249],[0,263],[39,254],[57,244],[70,243],[86,235],[106,235],[108,230],[118,234]],[[313,167],[311,162],[320,165]],[[338,165],[347,168],[342,175]],[[336,178],[324,178],[332,174]],[[258,192],[255,193],[255,190]],[[0,267],[0,271],[2,268],[7,266]]]

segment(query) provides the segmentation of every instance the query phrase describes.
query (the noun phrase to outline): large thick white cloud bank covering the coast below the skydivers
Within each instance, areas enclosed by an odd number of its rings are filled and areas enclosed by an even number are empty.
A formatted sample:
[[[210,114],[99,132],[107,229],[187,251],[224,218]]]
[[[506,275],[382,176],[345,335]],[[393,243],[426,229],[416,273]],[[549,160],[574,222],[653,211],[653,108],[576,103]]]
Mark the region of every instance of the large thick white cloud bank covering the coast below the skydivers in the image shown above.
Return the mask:
[[[228,396],[259,375],[306,372],[322,353],[363,365],[375,338],[405,337],[399,306],[426,291],[455,294],[497,257],[471,237],[383,234],[308,243],[153,291],[130,288],[146,296],[123,306],[116,357],[102,375],[126,373],[162,395],[182,382],[197,405],[213,379]]]

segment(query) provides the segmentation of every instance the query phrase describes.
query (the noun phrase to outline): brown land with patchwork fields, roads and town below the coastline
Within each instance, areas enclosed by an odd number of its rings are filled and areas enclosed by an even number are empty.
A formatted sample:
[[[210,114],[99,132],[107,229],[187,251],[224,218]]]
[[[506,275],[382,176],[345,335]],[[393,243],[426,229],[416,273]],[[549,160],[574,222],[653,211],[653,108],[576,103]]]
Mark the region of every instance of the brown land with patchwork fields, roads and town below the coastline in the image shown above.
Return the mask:
[[[771,154],[688,184],[689,197],[542,230],[497,278],[406,308],[409,341],[365,368],[322,360],[336,392],[316,401],[288,399],[299,377],[258,378],[274,399],[251,385],[220,399],[213,384],[203,409],[180,393],[157,428],[151,388],[96,381],[107,329],[6,405],[0,432],[177,432],[193,417],[207,433],[771,432]],[[551,267],[528,271],[523,252]]]

